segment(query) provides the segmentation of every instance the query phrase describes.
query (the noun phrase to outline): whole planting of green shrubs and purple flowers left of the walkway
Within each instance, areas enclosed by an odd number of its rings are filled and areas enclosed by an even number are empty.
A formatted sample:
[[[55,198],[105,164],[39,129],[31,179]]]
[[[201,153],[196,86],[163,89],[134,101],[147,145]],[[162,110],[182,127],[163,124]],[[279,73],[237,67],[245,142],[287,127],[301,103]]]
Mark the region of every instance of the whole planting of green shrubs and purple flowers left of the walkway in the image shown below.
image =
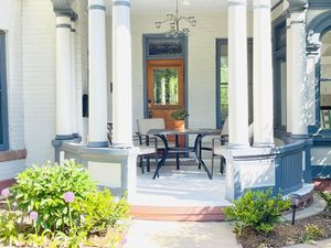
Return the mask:
[[[74,161],[28,169],[1,195],[8,211],[0,212],[0,245],[78,248],[100,238],[104,244],[96,247],[115,248],[124,240],[129,209],[125,196],[117,200],[109,190],[98,191]]]

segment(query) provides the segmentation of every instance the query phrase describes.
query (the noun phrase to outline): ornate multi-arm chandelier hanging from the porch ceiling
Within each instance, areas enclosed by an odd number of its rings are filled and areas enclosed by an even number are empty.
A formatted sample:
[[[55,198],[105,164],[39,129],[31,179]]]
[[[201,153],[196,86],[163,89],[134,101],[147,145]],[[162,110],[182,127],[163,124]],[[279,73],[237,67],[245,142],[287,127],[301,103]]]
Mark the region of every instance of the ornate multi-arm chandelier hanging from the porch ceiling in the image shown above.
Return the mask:
[[[178,11],[178,0],[175,0],[175,13],[174,14],[167,14],[167,19],[163,21],[158,21],[156,22],[157,29],[160,29],[161,25],[166,22],[169,23],[170,30],[166,32],[167,37],[178,37],[179,35],[189,35],[190,30],[188,28],[180,29],[180,22],[181,21],[186,21],[189,22],[192,26],[196,25],[196,20],[194,17],[179,17],[179,11]]]

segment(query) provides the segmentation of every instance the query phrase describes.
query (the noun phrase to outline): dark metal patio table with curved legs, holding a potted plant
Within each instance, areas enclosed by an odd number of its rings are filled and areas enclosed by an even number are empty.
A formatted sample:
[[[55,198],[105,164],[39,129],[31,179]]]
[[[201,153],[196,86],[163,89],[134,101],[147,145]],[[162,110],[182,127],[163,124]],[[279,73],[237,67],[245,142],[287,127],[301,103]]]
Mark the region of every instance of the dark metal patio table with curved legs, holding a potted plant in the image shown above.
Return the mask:
[[[148,136],[156,136],[160,138],[164,144],[164,152],[162,159],[157,164],[157,170],[153,175],[153,180],[158,176],[159,171],[164,165],[166,160],[169,158],[170,154],[177,155],[177,163],[179,169],[179,154],[193,152],[194,159],[199,165],[202,165],[207,176],[212,180],[213,175],[211,174],[210,170],[205,165],[204,161],[202,160],[200,148],[201,148],[201,140],[205,136],[212,134],[221,134],[221,129],[209,129],[209,128],[194,128],[194,129],[184,129],[184,130],[170,130],[170,129],[151,129],[147,132]],[[175,136],[175,147],[169,147],[169,142],[167,136]],[[179,147],[179,136],[196,136],[194,140],[193,147]]]

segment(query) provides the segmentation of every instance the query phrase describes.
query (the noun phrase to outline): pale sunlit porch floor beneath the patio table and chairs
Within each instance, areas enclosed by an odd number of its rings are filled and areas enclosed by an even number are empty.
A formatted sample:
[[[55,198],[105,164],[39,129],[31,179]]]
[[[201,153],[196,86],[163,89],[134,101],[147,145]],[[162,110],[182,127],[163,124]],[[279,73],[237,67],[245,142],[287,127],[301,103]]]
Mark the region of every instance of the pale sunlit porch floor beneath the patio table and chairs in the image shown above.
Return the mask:
[[[131,204],[139,206],[162,207],[222,207],[231,203],[225,200],[225,175],[220,173],[220,162],[215,161],[213,180],[206,172],[197,169],[192,159],[181,159],[180,170],[173,160],[169,160],[160,170],[160,177],[152,180],[156,168],[151,172],[141,173],[137,169],[137,194]],[[205,161],[211,168],[211,161]]]

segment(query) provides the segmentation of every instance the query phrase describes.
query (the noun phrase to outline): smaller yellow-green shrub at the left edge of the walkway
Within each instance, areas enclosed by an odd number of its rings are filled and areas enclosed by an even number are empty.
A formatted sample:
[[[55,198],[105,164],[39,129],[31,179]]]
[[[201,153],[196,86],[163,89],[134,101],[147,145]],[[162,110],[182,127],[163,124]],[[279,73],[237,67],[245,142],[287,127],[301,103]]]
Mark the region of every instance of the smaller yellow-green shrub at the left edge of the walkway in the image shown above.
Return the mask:
[[[105,188],[88,193],[86,201],[82,204],[76,203],[74,208],[84,215],[84,229],[104,233],[117,222],[127,218],[129,204],[125,197],[117,201],[110,191]]]

